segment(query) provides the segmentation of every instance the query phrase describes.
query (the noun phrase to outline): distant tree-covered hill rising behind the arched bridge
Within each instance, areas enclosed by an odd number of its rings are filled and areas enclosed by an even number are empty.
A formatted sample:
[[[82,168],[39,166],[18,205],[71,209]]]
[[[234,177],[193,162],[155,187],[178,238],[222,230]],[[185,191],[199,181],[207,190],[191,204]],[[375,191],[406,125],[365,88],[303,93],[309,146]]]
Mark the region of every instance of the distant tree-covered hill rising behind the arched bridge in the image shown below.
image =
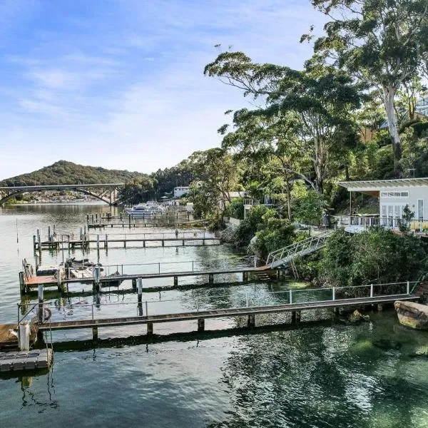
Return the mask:
[[[95,184],[124,183],[131,178],[145,175],[127,170],[108,170],[96,166],[77,165],[58,161],[32,173],[17,175],[0,181],[0,185],[46,185],[46,184]]]

